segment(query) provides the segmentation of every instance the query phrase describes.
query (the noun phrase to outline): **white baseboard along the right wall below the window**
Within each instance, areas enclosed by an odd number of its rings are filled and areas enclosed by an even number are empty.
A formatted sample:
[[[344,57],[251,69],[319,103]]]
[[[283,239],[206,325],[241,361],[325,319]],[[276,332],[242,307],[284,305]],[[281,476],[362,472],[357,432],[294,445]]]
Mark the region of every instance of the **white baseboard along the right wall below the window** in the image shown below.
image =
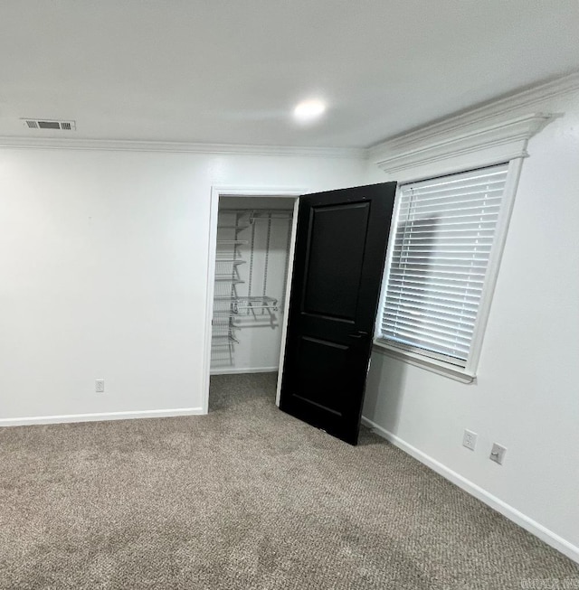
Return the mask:
[[[439,473],[442,477],[454,483],[455,485],[458,485],[465,492],[469,492],[470,495],[478,498],[480,501],[483,501],[485,504],[490,506],[490,508],[497,510],[503,516],[507,517],[508,520],[512,520],[519,527],[528,530],[536,537],[545,541],[547,545],[550,545],[552,548],[560,551],[565,556],[573,559],[574,562],[579,563],[579,547],[576,547],[569,541],[565,540],[565,538],[559,537],[559,535],[555,534],[552,530],[547,529],[542,524],[536,522],[536,520],[530,519],[527,515],[523,514],[516,508],[513,508],[496,496],[493,496],[491,493],[487,492],[476,483],[470,482],[470,480],[460,475],[460,473],[452,471],[449,467],[436,461],[436,459],[433,459],[428,454],[422,453],[422,451],[417,449],[415,446],[404,442],[402,438],[393,435],[391,432],[385,430],[382,426],[378,426],[375,424],[375,422],[372,422],[372,420],[362,417],[362,424],[372,428],[376,435],[382,436],[393,445],[402,449],[404,453],[410,454],[414,457],[414,459],[430,467],[433,471]]]

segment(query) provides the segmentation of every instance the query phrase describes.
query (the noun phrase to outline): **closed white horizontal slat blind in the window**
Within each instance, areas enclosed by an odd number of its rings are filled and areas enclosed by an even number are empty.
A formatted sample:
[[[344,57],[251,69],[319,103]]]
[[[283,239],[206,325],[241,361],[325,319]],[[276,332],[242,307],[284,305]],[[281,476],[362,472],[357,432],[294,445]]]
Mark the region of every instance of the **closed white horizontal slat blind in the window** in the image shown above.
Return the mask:
[[[508,164],[404,184],[381,338],[466,366]]]

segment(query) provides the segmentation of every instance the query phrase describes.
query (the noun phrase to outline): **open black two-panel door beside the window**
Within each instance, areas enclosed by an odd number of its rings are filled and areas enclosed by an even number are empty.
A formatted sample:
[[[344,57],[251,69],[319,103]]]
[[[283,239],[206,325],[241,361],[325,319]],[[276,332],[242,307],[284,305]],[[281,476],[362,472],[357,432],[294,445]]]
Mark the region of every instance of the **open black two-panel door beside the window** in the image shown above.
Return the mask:
[[[299,200],[280,408],[356,445],[396,183]]]

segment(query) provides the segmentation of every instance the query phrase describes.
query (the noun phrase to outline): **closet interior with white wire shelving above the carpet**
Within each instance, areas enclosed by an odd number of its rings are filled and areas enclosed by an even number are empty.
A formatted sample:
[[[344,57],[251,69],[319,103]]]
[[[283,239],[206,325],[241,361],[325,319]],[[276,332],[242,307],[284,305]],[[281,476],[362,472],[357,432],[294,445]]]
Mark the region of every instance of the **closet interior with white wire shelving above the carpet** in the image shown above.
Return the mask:
[[[217,220],[211,373],[276,371],[293,199],[222,197]]]

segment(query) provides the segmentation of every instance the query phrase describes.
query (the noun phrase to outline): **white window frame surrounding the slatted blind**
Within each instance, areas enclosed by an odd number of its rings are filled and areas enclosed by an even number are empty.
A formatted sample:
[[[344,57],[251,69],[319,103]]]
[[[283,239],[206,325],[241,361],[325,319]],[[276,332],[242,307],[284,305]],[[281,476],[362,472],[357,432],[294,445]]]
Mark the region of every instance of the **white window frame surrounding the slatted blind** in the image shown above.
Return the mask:
[[[495,229],[495,237],[492,243],[489,257],[489,266],[487,267],[487,274],[485,276],[484,285],[482,288],[482,295],[480,296],[479,310],[477,319],[473,330],[472,340],[470,342],[470,351],[464,367],[453,364],[449,361],[442,361],[434,356],[427,355],[420,349],[410,346],[397,344],[381,336],[381,321],[384,313],[384,302],[386,290],[388,285],[388,278],[390,276],[390,268],[392,265],[392,258],[394,254],[394,238],[396,234],[396,225],[398,222],[398,215],[400,211],[400,187],[402,184],[418,183],[432,178],[441,178],[455,173],[465,173],[477,170],[478,168],[487,168],[493,164],[481,162],[479,166],[457,166],[454,170],[445,170],[444,173],[432,173],[432,175],[420,175],[404,177],[403,183],[399,183],[396,189],[396,196],[394,201],[394,211],[390,225],[390,236],[388,239],[388,248],[386,251],[386,259],[384,264],[384,273],[382,277],[382,287],[380,291],[380,305],[378,314],[376,314],[375,322],[375,350],[381,351],[398,360],[408,362],[418,367],[427,370],[432,370],[438,374],[457,379],[464,383],[470,383],[477,377],[479,370],[480,354],[484,341],[487,324],[489,321],[490,307],[492,304],[495,287],[497,285],[498,271],[500,261],[502,259],[505,243],[507,241],[508,225],[511,219],[511,213],[515,203],[515,196],[517,193],[518,179],[523,164],[523,157],[515,157],[505,159],[502,162],[495,164],[508,164],[507,180],[503,192],[501,208],[498,215],[497,227]],[[406,176],[406,175],[404,175]]]

